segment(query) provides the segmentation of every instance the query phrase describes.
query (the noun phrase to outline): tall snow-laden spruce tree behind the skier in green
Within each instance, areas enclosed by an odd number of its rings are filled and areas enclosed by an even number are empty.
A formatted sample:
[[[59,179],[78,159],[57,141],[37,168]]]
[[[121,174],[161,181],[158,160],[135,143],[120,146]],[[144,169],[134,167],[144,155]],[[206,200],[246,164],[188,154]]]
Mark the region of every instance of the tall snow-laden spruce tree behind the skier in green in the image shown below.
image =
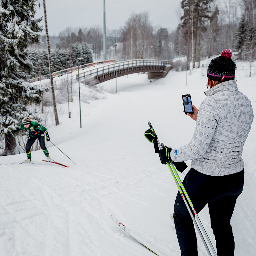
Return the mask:
[[[37,0],[0,1],[0,132],[4,133],[5,149],[2,155],[15,152],[16,142],[7,134],[30,113],[29,102],[40,102],[43,90],[26,82],[31,62],[24,53],[28,44],[39,43],[35,19]]]

